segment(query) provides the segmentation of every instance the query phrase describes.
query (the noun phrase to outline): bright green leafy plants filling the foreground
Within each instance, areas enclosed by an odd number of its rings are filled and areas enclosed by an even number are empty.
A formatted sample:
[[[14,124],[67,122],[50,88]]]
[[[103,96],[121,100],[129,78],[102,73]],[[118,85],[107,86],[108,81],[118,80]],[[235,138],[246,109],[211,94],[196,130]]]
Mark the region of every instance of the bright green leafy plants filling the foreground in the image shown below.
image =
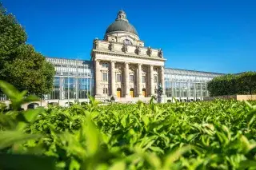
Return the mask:
[[[97,104],[1,113],[0,169],[256,169],[255,102]]]

